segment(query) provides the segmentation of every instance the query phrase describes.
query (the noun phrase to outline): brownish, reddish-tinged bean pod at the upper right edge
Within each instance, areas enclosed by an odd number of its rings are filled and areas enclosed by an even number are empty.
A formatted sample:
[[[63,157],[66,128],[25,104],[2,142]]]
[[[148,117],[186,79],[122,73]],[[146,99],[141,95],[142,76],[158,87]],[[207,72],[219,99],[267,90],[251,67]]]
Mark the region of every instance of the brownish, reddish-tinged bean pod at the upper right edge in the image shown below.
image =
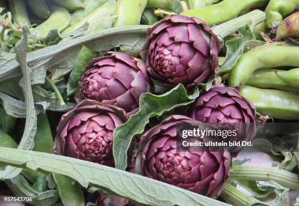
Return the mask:
[[[299,12],[290,15],[279,24],[274,41],[290,36],[299,37]]]

